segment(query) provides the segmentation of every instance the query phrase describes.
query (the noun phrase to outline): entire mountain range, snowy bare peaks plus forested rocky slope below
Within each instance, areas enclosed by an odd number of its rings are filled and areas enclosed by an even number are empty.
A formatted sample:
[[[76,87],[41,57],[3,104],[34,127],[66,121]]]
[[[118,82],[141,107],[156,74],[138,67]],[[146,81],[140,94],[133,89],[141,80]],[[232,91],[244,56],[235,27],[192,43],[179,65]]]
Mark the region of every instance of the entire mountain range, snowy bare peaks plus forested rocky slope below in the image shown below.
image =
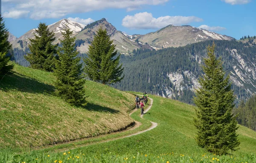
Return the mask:
[[[87,26],[67,19],[49,25],[49,30],[55,33],[54,43],[62,39],[61,31],[66,26],[73,30],[80,53],[87,53],[100,27],[107,30],[116,49],[123,54],[121,62],[125,67],[125,78],[114,85],[118,89],[147,91],[192,103],[191,97],[202,74],[200,64],[207,56],[206,46],[215,40],[216,54],[222,57],[224,69],[230,74],[237,99],[256,93],[256,39],[237,41],[205,29],[173,25],[144,35],[128,35],[102,18]],[[17,39],[12,38],[15,61],[20,65],[29,66],[23,55],[29,51],[29,38],[33,38],[34,33],[35,29],[32,29]]]

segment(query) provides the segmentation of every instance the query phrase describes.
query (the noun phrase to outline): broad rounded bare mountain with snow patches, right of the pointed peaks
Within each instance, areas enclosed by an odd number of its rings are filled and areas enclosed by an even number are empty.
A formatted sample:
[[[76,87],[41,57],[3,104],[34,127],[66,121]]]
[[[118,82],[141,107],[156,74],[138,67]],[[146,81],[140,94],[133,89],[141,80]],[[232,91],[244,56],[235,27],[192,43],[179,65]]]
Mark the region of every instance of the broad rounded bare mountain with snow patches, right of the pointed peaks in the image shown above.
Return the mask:
[[[133,40],[160,48],[186,46],[191,43],[198,43],[205,40],[234,40],[233,37],[217,34],[205,29],[198,29],[192,26],[166,26],[158,31],[145,35],[132,35]]]

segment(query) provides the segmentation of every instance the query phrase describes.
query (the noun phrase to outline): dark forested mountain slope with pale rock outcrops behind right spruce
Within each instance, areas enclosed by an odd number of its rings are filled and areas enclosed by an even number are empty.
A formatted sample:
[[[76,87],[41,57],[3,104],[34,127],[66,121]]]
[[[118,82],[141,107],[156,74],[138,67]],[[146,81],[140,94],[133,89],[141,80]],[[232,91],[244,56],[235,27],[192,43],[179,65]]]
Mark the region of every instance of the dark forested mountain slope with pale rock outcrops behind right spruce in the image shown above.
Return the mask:
[[[206,46],[212,42],[158,51],[138,49],[134,56],[122,56],[125,78],[114,87],[192,103],[202,74],[200,64],[207,55]],[[256,48],[235,40],[215,40],[215,44],[216,56],[222,58],[224,69],[230,74],[237,99],[250,97],[256,92]]]

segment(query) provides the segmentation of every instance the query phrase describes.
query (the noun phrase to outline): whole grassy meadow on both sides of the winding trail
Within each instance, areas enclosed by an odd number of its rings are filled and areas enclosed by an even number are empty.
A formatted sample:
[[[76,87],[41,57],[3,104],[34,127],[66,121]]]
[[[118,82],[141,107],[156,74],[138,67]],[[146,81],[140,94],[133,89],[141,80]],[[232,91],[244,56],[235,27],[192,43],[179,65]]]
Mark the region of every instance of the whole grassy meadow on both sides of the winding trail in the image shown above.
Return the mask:
[[[51,73],[15,65],[14,73],[1,81],[0,162],[256,162],[256,132],[244,126],[239,126],[241,144],[235,152],[219,156],[198,147],[193,122],[195,106],[149,95],[154,102],[143,119],[140,110],[130,117],[128,113],[134,108],[134,94],[141,93],[121,92],[87,81],[87,106],[75,107],[54,96],[54,80]],[[141,123],[135,129],[132,127],[134,120]],[[150,122],[158,126],[123,138],[147,129]],[[88,129],[91,126],[94,130]],[[120,131],[126,127],[128,130]],[[33,130],[40,131],[41,137],[31,134]],[[90,135],[83,136],[88,131]],[[117,138],[120,139],[115,140]],[[112,141],[102,143],[106,140]]]

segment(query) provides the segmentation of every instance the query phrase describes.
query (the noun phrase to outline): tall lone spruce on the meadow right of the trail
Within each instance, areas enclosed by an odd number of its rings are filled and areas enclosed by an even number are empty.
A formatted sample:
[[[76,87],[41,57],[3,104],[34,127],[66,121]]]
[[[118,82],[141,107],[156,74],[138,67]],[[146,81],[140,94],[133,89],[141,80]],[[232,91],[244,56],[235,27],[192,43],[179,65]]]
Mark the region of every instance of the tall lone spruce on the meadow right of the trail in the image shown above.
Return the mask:
[[[232,114],[235,96],[229,83],[230,76],[225,78],[221,59],[215,57],[214,50],[214,43],[207,47],[208,58],[204,58],[205,66],[202,66],[204,75],[199,78],[201,88],[194,97],[196,141],[209,152],[227,154],[240,144],[236,117]]]

